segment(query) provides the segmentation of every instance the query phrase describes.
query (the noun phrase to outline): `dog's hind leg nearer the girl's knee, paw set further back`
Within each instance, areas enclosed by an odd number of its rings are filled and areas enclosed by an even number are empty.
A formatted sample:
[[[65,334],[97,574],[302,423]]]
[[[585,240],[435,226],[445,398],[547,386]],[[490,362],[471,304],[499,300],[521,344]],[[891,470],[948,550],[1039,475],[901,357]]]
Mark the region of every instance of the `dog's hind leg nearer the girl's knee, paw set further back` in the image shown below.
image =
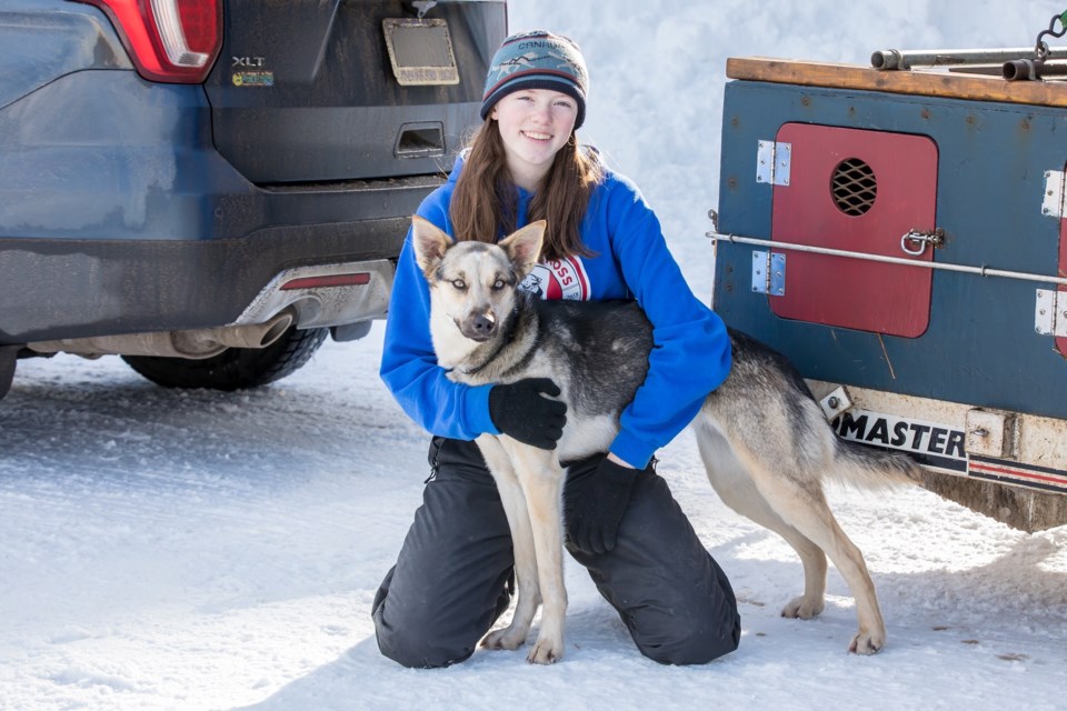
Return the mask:
[[[706,423],[698,423],[696,431],[697,447],[708,481],[722,502],[784,538],[800,558],[804,567],[804,594],[786,603],[781,615],[810,620],[822,612],[826,604],[826,553],[775,512],[718,430]]]

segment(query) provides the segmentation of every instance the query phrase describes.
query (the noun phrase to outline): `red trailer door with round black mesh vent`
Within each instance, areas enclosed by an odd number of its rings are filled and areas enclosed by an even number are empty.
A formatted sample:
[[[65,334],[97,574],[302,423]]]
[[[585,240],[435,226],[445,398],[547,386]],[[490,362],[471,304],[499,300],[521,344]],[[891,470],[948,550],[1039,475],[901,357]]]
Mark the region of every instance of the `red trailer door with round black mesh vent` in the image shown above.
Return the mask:
[[[789,184],[775,186],[771,240],[933,261],[929,246],[908,254],[901,238],[933,231],[937,144],[924,136],[786,123]],[[917,246],[908,241],[910,249]],[[771,310],[787,319],[917,338],[930,319],[929,269],[786,250],[785,294]]]

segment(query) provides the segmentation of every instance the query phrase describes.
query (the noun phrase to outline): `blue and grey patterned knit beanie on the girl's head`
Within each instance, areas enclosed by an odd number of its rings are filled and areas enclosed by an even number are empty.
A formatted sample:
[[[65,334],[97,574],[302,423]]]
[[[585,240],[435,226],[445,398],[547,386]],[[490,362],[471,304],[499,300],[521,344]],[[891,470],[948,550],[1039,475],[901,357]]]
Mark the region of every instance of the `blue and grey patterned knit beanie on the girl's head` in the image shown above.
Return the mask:
[[[589,73],[581,50],[569,38],[546,30],[519,32],[503,40],[492,56],[481,102],[485,121],[497,101],[520,89],[551,89],[578,102],[575,128],[586,120]]]

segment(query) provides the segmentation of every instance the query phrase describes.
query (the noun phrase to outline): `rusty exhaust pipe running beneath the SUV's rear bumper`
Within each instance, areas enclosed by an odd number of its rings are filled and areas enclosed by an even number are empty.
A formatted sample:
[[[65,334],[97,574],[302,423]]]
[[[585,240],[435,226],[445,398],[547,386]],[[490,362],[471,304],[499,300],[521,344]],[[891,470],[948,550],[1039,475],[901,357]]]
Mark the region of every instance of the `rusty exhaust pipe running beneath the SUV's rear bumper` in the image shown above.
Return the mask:
[[[218,356],[228,348],[266,348],[281,338],[293,321],[293,311],[287,309],[263,323],[36,341],[28,343],[27,348],[39,353],[62,351],[86,358],[160,356],[201,360]]]

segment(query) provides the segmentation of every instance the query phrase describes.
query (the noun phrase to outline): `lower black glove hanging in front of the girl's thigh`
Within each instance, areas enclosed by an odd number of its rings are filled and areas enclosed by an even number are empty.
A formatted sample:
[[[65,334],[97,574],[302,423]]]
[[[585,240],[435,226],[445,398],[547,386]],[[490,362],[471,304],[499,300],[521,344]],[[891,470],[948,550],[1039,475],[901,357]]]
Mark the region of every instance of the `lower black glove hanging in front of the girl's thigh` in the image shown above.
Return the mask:
[[[645,471],[650,469],[651,464]],[[592,473],[567,480],[564,520],[567,538],[575,548],[590,554],[615,550],[630,490],[645,471],[616,464],[605,457]]]

